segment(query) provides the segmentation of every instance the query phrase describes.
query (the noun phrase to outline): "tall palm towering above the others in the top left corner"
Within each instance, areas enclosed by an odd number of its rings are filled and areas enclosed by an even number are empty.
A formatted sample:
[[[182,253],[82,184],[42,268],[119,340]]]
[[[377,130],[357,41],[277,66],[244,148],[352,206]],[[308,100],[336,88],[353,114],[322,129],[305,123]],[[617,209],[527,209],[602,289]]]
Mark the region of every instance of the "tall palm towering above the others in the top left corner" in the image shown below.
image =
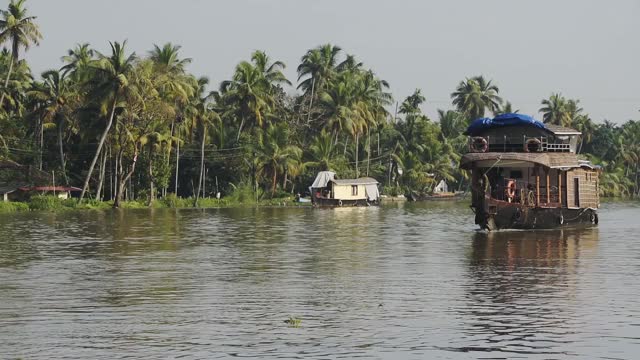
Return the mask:
[[[42,34],[38,25],[35,24],[35,16],[27,16],[27,8],[24,6],[26,0],[11,0],[7,10],[2,10],[0,18],[0,43],[9,41],[11,43],[11,61],[9,71],[4,82],[4,89],[0,96],[0,107],[4,103],[7,93],[7,86],[13,71],[13,64],[18,62],[20,48],[28,50],[32,44],[39,45]]]

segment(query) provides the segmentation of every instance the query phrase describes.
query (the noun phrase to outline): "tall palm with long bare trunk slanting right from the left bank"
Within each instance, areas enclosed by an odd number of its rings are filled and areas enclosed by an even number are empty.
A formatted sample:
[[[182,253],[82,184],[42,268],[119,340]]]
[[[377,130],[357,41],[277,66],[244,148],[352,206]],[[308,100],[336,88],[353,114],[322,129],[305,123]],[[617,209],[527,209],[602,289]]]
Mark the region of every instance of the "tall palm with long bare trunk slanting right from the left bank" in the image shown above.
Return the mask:
[[[127,89],[129,82],[128,76],[132,71],[133,63],[136,59],[135,53],[126,54],[125,46],[127,41],[122,44],[118,42],[110,42],[111,55],[105,56],[98,53],[99,60],[92,64],[92,69],[96,72],[95,83],[92,84],[92,92],[97,99],[101,99],[101,111],[107,115],[107,125],[100,136],[98,142],[98,148],[91,161],[87,176],[80,193],[80,201],[84,198],[87,189],[89,188],[89,180],[91,180],[91,174],[98,161],[104,142],[107,139],[111,125],[116,114],[116,107],[123,92]],[[108,110],[107,110],[108,107]]]

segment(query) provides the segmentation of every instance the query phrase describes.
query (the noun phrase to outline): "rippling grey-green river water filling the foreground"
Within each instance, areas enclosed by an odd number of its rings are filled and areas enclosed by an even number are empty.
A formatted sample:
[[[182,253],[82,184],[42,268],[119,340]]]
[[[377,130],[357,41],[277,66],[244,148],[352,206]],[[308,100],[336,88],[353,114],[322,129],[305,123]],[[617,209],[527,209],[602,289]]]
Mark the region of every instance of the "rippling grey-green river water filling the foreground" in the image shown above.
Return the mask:
[[[638,203],[495,233],[460,203],[2,215],[0,358],[638,359],[639,219]]]

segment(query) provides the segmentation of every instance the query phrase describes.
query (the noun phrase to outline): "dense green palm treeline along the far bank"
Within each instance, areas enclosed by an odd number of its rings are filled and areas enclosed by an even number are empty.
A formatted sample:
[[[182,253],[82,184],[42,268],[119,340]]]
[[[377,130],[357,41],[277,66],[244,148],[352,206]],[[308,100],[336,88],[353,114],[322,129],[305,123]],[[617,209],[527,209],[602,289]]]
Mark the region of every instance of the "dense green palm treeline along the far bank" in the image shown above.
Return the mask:
[[[436,121],[421,111],[420,90],[390,114],[387,82],[331,44],[302,56],[298,92],[285,64],[263,51],[210,91],[179,46],[138,55],[126,41],[105,54],[79,44],[38,77],[19,57],[41,38],[34,21],[24,0],[1,14],[0,159],[55,171],[59,182],[83,186],[83,197],[115,207],[158,198],[198,206],[217,192],[234,203],[278,198],[304,193],[320,170],[372,176],[394,194],[429,192],[441,179],[464,189],[457,162],[470,119],[517,111],[476,76],[460,82],[453,109]],[[578,104],[554,94],[540,111],[584,133],[580,151],[604,166],[605,195],[638,195],[640,123],[596,124]],[[32,206],[55,206],[42,201]]]

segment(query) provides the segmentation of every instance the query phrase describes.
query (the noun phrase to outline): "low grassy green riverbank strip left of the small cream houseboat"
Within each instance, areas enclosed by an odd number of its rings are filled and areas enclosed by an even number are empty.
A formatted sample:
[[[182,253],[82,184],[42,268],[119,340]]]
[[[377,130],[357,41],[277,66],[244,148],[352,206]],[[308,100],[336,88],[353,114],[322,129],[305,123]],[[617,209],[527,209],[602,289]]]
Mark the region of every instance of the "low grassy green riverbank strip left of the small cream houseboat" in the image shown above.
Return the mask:
[[[310,206],[311,203],[299,203],[293,196],[273,199],[238,199],[238,198],[200,198],[195,206],[193,198],[179,198],[167,196],[154,200],[151,205],[147,200],[132,200],[121,202],[122,209],[213,209],[255,206]],[[79,203],[77,199],[59,199],[54,196],[34,196],[28,202],[0,202],[0,214],[23,211],[65,211],[65,210],[108,210],[113,208],[113,201],[85,200]]]

